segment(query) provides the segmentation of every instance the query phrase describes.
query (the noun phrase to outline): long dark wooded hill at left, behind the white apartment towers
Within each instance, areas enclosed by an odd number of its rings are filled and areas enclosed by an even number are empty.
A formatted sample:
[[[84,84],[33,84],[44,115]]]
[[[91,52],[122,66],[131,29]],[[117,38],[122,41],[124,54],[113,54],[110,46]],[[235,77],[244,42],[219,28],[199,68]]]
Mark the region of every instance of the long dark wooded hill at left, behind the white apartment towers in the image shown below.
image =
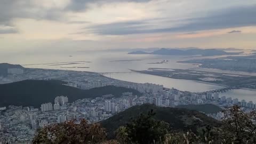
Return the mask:
[[[65,95],[69,102],[83,98],[101,97],[105,94],[115,96],[123,92],[132,92],[140,95],[133,89],[118,86],[97,87],[90,90],[77,89],[63,85],[62,81],[25,80],[9,84],[0,84],[0,107],[4,106],[34,106],[40,107],[42,103],[54,102],[55,97]]]

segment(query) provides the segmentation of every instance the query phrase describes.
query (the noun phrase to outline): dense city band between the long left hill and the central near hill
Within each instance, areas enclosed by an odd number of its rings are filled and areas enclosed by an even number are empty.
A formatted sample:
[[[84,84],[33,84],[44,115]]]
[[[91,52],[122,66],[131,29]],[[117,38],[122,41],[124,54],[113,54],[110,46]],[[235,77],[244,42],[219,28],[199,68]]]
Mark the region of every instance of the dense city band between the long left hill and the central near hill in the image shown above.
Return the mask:
[[[38,127],[81,118],[87,119],[89,123],[95,123],[143,103],[152,103],[160,107],[175,107],[189,103],[199,104],[212,101],[225,103],[227,101],[227,99],[219,98],[218,94],[197,95],[175,89],[163,89],[162,86],[147,83],[127,87],[141,91],[142,96],[138,97],[131,92],[125,92],[121,97],[108,94],[95,99],[79,99],[71,103],[68,103],[68,97],[58,96],[54,104],[42,103],[40,109],[9,106],[2,110],[0,116],[0,135],[7,137],[9,143],[30,142]]]

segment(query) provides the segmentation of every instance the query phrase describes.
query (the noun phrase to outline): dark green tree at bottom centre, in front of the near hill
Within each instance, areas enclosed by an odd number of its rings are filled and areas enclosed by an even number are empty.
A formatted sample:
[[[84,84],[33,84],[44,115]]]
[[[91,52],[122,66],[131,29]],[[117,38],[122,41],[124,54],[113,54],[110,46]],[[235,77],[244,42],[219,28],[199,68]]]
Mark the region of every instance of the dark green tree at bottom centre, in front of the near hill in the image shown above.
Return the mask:
[[[117,132],[118,141],[121,143],[151,144],[165,140],[169,131],[169,124],[153,118],[155,113],[149,111],[147,115],[141,114],[131,123],[120,127]]]

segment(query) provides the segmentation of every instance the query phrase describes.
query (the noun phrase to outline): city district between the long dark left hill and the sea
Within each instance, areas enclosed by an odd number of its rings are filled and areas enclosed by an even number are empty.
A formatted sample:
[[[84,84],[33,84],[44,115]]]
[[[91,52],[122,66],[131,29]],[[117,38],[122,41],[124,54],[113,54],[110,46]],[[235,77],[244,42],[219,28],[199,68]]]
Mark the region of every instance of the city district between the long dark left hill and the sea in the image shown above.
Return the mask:
[[[107,85],[115,85],[122,87],[129,87],[136,89],[140,92],[156,92],[163,89],[163,85],[156,84],[138,84],[132,82],[119,81],[109,77],[102,76],[98,73],[92,73],[87,71],[70,71],[70,70],[53,70],[53,69],[33,69],[26,68],[22,74],[13,75],[10,74],[7,77],[0,78],[0,84],[12,83],[23,81],[26,79],[36,80],[50,80],[56,79],[63,82],[67,82],[68,86],[77,87],[80,89],[92,89],[94,87],[102,87]]]

